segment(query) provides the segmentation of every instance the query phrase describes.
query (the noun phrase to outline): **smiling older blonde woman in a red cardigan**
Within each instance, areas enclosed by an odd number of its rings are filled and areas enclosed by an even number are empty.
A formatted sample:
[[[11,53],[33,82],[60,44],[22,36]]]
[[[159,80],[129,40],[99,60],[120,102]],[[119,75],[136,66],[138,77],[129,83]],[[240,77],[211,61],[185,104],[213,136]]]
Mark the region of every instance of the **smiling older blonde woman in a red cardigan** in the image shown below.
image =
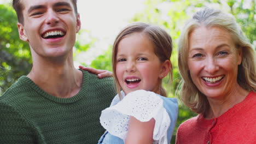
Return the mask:
[[[180,97],[199,115],[179,126],[176,143],[256,143],[255,52],[234,17],[198,11],[178,46]]]

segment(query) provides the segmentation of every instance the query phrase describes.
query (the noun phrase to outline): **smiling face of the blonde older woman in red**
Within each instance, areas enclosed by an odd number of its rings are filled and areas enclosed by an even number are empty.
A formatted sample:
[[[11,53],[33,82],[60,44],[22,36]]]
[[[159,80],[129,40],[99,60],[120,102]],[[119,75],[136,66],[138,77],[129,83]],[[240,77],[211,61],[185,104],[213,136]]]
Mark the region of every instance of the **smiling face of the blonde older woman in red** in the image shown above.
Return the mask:
[[[221,98],[235,91],[241,60],[241,52],[225,29],[202,26],[190,33],[190,76],[207,98]]]

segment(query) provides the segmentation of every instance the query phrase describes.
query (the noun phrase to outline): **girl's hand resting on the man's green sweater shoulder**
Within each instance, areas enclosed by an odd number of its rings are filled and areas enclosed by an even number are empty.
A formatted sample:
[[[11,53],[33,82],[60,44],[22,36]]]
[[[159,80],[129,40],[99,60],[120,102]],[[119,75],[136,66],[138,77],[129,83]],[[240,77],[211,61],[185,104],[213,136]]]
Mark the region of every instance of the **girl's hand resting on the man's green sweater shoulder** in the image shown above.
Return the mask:
[[[101,70],[101,69],[95,69],[95,68],[89,68],[89,67],[84,67],[82,65],[79,65],[80,69],[87,70],[92,74],[95,74],[98,76],[98,78],[104,78],[104,77],[110,77],[113,76],[113,73],[108,70]]]

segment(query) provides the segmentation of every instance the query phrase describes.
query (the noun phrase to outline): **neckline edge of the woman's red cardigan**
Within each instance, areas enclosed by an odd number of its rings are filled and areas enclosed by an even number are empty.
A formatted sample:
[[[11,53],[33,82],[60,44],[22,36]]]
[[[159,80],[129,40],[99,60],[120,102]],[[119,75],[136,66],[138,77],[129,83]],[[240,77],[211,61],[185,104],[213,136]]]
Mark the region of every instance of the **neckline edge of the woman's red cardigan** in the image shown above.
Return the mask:
[[[246,106],[248,103],[250,103],[253,96],[256,96],[256,93],[253,91],[249,92],[249,94],[246,96],[246,98],[243,101],[234,105],[228,111],[224,112],[221,116],[219,116],[217,118],[206,119],[203,117],[202,114],[200,114],[197,117],[197,122],[199,122],[200,127],[203,127],[203,128],[208,127],[209,125],[212,125],[212,124],[216,123],[217,121],[218,121],[218,124],[226,122],[226,121],[228,121],[228,119],[230,119],[231,117],[236,115],[236,113],[238,111],[242,110],[242,108],[244,106]]]

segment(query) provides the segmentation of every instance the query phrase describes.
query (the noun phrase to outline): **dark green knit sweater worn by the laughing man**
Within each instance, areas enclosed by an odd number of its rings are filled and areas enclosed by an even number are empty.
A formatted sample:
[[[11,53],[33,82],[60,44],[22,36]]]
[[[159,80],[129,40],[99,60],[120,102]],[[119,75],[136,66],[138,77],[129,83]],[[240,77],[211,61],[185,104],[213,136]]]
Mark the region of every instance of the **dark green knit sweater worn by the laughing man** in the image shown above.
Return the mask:
[[[71,98],[57,98],[21,76],[0,97],[0,143],[97,143],[101,111],[116,94],[113,79],[83,71]]]

